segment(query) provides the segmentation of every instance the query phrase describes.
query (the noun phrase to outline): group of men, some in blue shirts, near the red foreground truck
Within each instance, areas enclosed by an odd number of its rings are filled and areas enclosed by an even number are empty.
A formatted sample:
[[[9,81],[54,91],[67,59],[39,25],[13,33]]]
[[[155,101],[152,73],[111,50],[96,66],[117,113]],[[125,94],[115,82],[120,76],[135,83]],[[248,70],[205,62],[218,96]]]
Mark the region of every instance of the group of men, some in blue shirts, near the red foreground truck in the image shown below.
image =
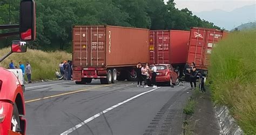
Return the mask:
[[[15,66],[14,60],[11,60],[8,68],[9,69],[21,69],[22,75],[23,75],[23,83],[25,83],[24,82],[25,74],[26,74],[26,77],[28,78],[28,83],[32,83],[31,82],[31,66],[30,66],[29,62],[26,62],[26,67],[24,66],[24,64],[22,64],[22,62],[19,62],[19,66]]]

